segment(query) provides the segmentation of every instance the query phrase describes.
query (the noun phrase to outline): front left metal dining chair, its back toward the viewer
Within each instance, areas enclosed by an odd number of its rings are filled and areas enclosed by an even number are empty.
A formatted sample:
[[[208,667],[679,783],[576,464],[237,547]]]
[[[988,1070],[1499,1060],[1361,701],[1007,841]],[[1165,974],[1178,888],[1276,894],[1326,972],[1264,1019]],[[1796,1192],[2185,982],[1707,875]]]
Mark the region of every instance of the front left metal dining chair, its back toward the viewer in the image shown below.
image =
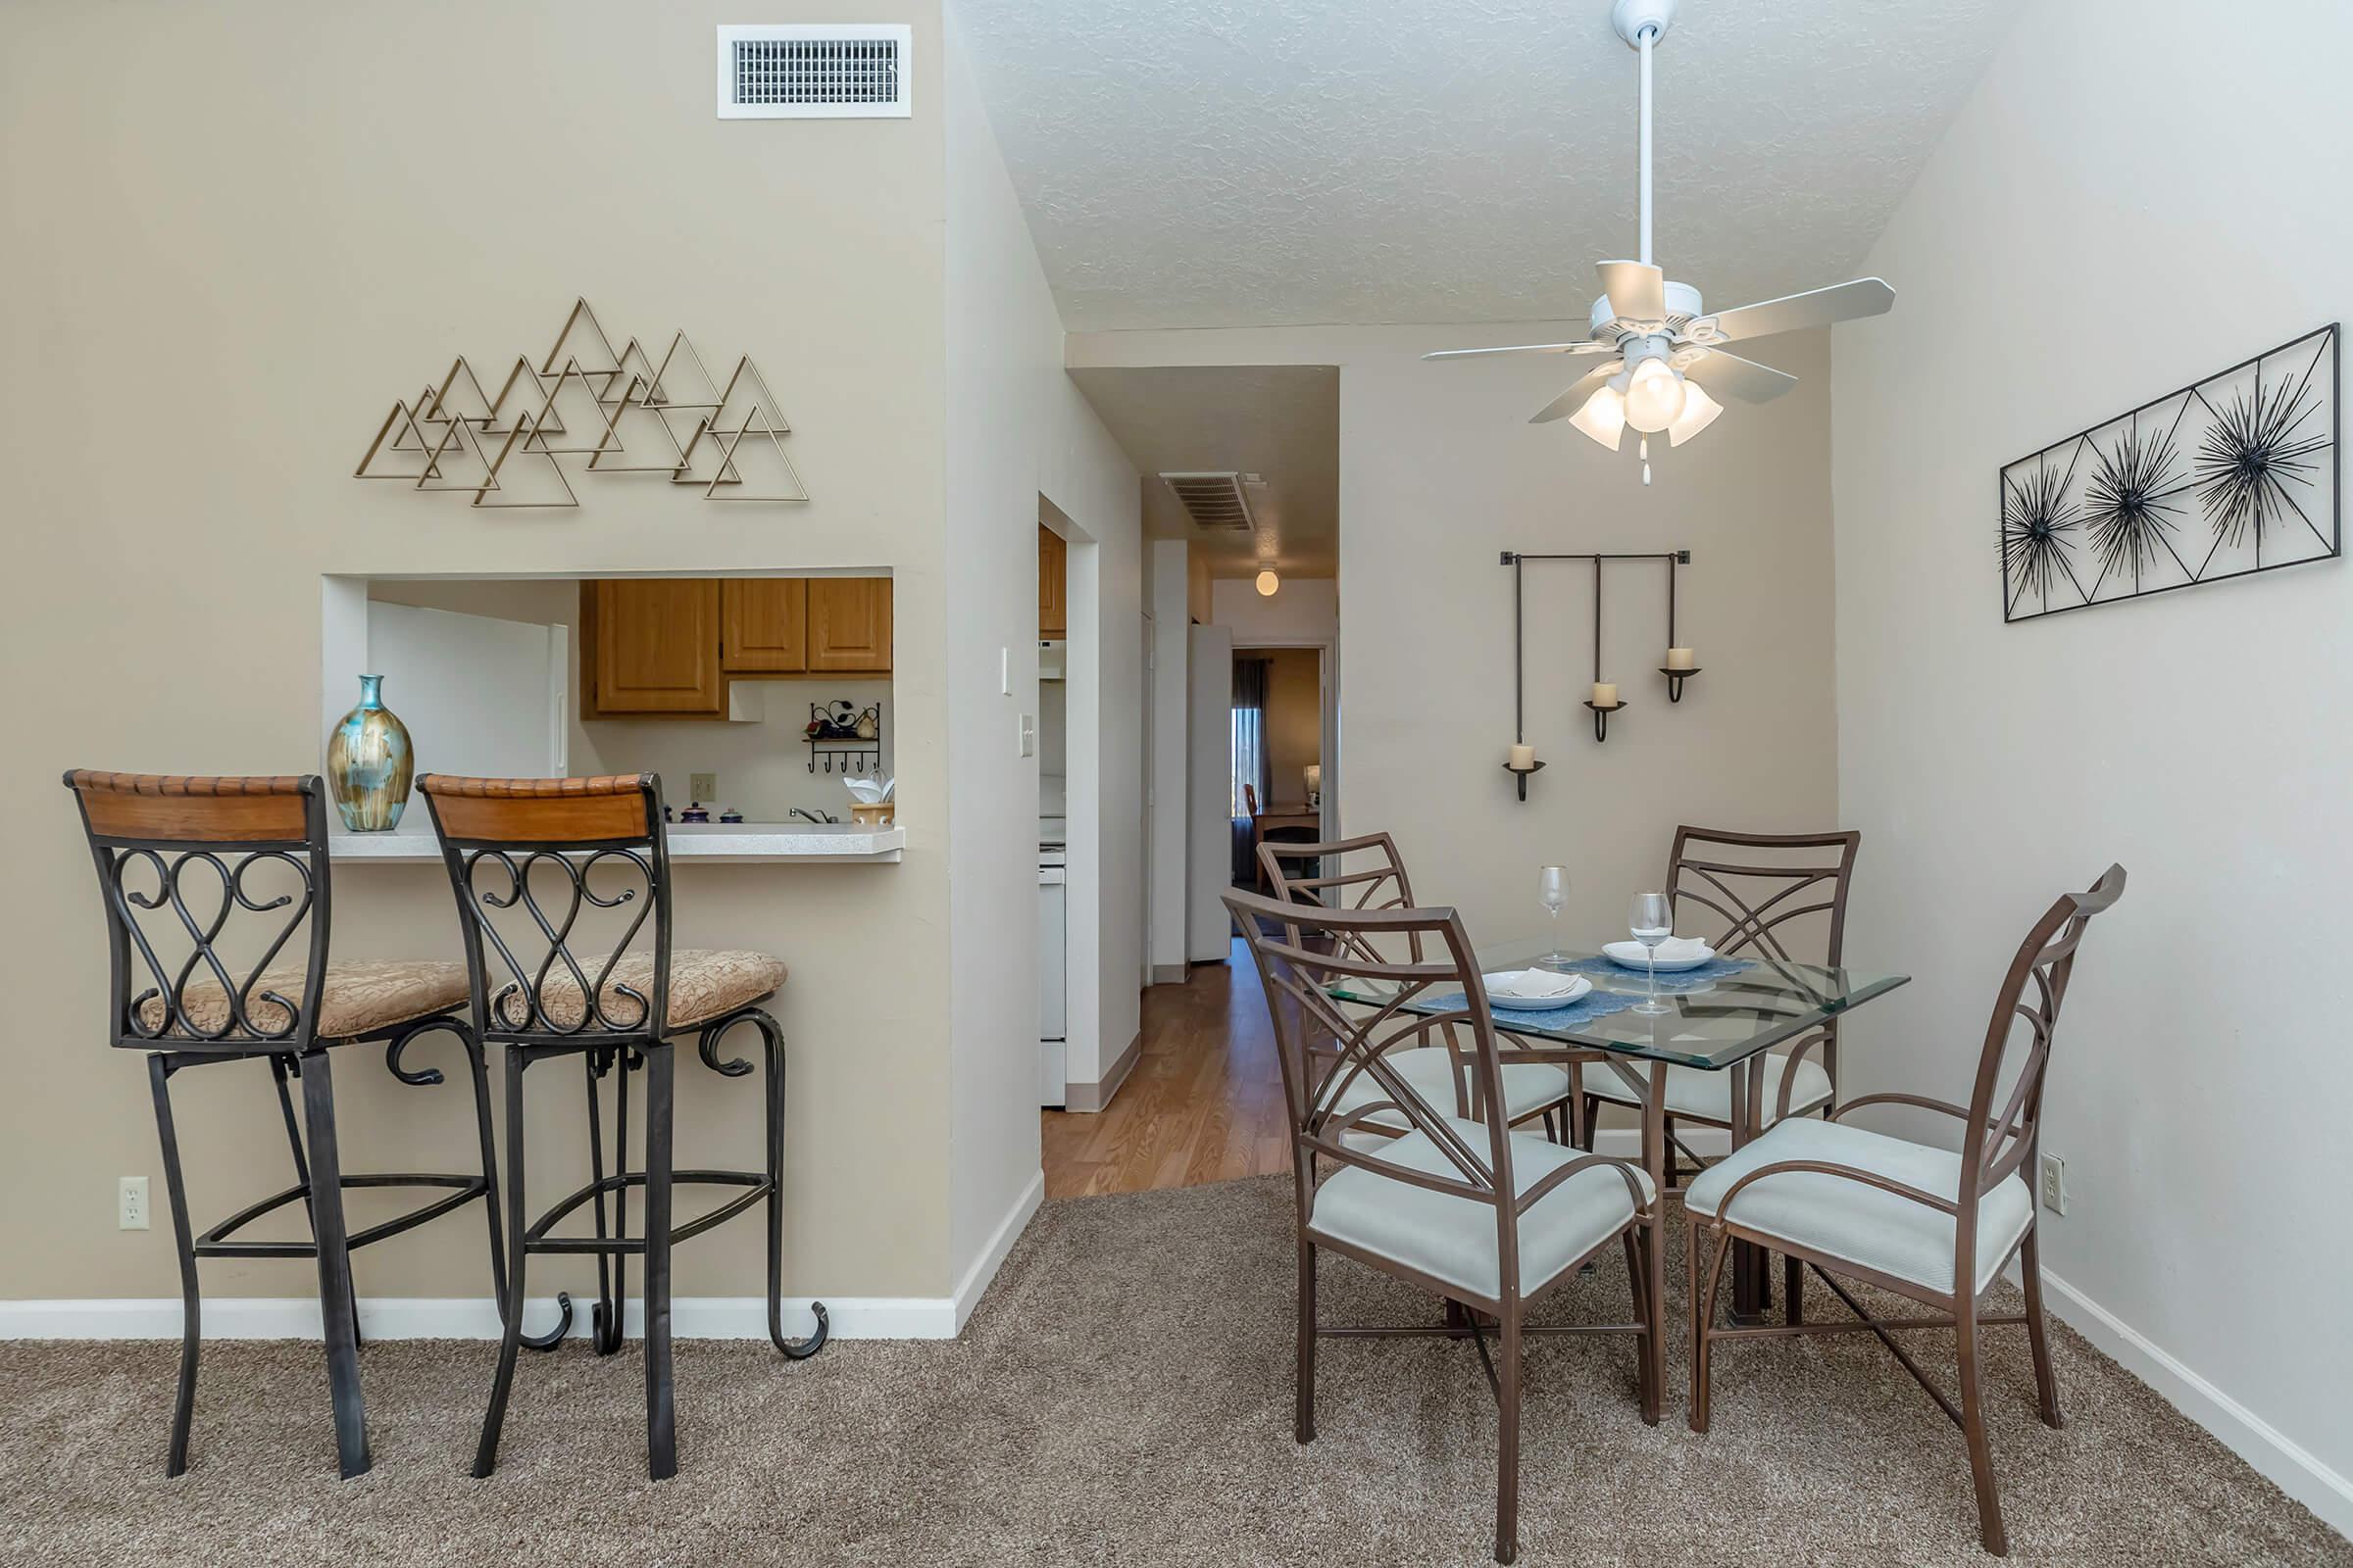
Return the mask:
[[[1471,1037],[1475,1100],[1504,1095],[1494,1016],[1454,910],[1327,910],[1226,893],[1259,966],[1292,1128],[1299,1241],[1299,1385],[1294,1436],[1315,1441],[1320,1338],[1468,1338],[1497,1396],[1494,1561],[1520,1549],[1520,1340],[1532,1333],[1628,1333],[1642,1408],[1661,1380],[1661,1305],[1649,1298],[1649,1178],[1600,1154],[1513,1133],[1501,1119],[1466,1121],[1393,1067],[1391,1046],[1461,1027]],[[1271,931],[1280,929],[1280,936]],[[1412,938],[1417,954],[1386,959],[1374,938]],[[1424,954],[1419,943],[1428,945]],[[1393,1001],[1346,1016],[1334,983],[1395,987]],[[1292,1006],[1278,1006],[1278,994]],[[1426,1001],[1442,1011],[1412,1013]],[[1308,1027],[1337,1041],[1318,1072]],[[1351,1098],[1369,1081],[1372,1098]],[[1351,1138],[1374,1117],[1402,1117],[1386,1140]],[[1527,1307],[1617,1241],[1633,1291],[1631,1324],[1527,1324]],[[1315,1309],[1318,1251],[1353,1258],[1449,1302],[1442,1326],[1325,1324]],[[1494,1352],[1480,1319],[1494,1321]]]

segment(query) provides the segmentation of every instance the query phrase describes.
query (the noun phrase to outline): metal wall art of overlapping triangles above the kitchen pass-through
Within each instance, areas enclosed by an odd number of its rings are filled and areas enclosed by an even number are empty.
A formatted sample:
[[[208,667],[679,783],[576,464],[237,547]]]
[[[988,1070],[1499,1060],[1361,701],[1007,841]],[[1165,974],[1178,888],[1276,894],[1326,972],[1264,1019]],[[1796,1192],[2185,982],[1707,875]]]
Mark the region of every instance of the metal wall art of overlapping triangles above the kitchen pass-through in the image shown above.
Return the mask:
[[[513,357],[496,393],[466,355],[452,357],[421,393],[393,400],[353,477],[464,494],[485,510],[576,508],[576,475],[661,475],[736,505],[809,498],[786,451],[793,423],[751,355],[734,355],[720,383],[685,331],[612,343],[584,296],[539,360]],[[649,343],[666,343],[659,360]]]

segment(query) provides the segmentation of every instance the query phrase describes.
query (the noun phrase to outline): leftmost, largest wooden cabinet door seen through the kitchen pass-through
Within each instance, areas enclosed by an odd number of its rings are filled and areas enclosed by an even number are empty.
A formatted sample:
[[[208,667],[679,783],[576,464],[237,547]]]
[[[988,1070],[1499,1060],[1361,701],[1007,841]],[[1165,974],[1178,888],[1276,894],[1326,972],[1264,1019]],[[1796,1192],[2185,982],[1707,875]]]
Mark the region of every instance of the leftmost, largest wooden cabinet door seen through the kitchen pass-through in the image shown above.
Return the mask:
[[[718,578],[581,583],[584,717],[701,715],[727,705]]]

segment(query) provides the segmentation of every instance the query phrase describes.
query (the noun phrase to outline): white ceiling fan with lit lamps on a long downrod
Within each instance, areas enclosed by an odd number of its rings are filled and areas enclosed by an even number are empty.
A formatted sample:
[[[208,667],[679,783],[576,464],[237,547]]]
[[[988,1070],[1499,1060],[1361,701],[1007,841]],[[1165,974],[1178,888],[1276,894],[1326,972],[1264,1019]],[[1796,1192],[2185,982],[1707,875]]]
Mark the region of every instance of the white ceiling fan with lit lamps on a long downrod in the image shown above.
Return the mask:
[[[1675,21],[1675,0],[1617,0],[1609,21],[1628,47],[1642,54],[1642,259],[1602,261],[1602,296],[1593,301],[1593,336],[1574,343],[1508,343],[1504,348],[1447,348],[1424,360],[1475,360],[1485,355],[1607,355],[1560,397],[1537,409],[1527,423],[1567,416],[1572,425],[1617,451],[1626,428],[1640,437],[1642,484],[1649,484],[1649,437],[1666,433],[1671,447],[1692,440],[1722,414],[1715,395],[1739,402],[1772,402],[1798,386],[1795,376],[1725,353],[1725,343],[1769,339],[1882,315],[1897,292],[1880,277],[1857,277],[1828,289],[1786,294],[1737,310],[1708,315],[1699,289],[1668,282],[1649,259],[1649,54]]]

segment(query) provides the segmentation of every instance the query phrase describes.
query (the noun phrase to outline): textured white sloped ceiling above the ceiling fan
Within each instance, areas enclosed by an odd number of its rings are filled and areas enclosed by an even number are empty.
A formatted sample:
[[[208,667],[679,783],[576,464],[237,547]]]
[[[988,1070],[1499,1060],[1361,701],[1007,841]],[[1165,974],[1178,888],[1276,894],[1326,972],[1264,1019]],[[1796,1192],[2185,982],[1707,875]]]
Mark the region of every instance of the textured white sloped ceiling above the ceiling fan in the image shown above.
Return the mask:
[[[1657,259],[1842,282],[2024,0],[1685,0]],[[1635,254],[1609,0],[960,0],[1071,331],[1584,317]],[[1901,289],[1901,280],[1892,280]]]

